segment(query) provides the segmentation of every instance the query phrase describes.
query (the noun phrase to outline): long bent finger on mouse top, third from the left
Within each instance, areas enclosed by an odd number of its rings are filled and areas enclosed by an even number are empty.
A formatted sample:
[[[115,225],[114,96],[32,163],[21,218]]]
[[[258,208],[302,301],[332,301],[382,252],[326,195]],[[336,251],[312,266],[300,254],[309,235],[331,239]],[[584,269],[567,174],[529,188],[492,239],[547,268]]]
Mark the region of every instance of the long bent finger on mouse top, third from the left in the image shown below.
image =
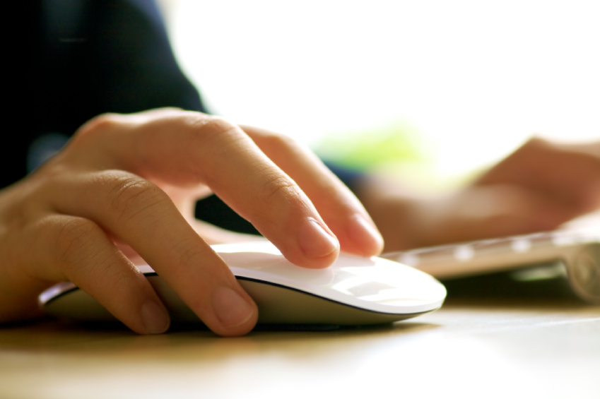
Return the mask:
[[[337,258],[339,242],[310,199],[239,126],[196,112],[148,117],[143,124],[116,118],[117,128],[112,121],[97,134],[79,135],[81,143],[102,149],[81,162],[157,182],[206,184],[292,263],[324,268]]]

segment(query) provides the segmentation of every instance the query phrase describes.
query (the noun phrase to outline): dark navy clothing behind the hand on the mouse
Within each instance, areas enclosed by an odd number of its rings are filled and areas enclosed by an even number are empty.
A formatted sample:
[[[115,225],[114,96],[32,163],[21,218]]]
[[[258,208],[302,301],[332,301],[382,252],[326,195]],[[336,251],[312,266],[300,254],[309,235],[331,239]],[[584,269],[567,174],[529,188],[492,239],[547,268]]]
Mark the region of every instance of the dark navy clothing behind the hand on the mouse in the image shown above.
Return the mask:
[[[23,65],[17,65],[8,82],[16,106],[13,129],[18,131],[4,135],[0,187],[25,177],[28,156],[35,155],[32,167],[39,165],[40,151],[58,150],[99,114],[158,107],[207,111],[177,66],[153,1],[23,3],[26,9],[12,13],[25,16],[14,35],[13,56]],[[25,57],[16,55],[23,49]],[[196,217],[230,230],[256,232],[215,196],[196,206]]]

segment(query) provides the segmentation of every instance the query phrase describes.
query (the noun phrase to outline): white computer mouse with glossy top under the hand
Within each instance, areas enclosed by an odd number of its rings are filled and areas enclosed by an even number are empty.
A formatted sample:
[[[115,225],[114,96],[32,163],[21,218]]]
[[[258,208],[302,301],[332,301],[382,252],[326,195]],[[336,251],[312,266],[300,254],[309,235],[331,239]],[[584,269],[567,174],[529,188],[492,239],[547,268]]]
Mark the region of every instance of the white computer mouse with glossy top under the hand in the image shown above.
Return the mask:
[[[259,307],[259,323],[365,325],[391,323],[440,308],[445,287],[428,274],[383,258],[341,253],[329,268],[295,266],[270,242],[213,245]],[[175,322],[199,318],[150,266],[138,266]],[[114,320],[71,282],[40,294],[48,314],[81,321]]]

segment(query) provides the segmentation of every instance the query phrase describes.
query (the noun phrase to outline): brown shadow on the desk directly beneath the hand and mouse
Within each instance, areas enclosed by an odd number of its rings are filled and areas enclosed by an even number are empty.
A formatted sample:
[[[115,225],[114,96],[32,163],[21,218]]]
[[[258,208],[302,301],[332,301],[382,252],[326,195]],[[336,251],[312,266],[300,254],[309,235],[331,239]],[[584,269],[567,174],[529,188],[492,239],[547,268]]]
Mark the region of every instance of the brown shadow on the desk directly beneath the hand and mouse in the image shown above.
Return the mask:
[[[43,350],[54,353],[86,352],[94,355],[102,353],[108,355],[127,350],[163,347],[172,351],[177,347],[187,350],[192,347],[216,345],[228,347],[228,351],[240,355],[240,351],[250,350],[252,352],[252,347],[265,342],[269,342],[269,345],[277,345],[277,343],[298,345],[310,341],[319,341],[320,343],[331,341],[333,343],[369,336],[408,335],[439,327],[435,323],[418,321],[403,321],[376,326],[259,325],[244,337],[220,338],[202,326],[175,325],[163,335],[137,335],[117,322],[81,323],[47,319],[35,323],[4,326],[0,329],[0,350]],[[224,345],[220,345],[220,342]],[[190,353],[194,353],[194,351],[192,350]],[[219,350],[214,355],[222,358],[226,356],[226,353]],[[182,352],[180,356],[185,357],[185,354]],[[195,357],[195,355],[191,356]]]

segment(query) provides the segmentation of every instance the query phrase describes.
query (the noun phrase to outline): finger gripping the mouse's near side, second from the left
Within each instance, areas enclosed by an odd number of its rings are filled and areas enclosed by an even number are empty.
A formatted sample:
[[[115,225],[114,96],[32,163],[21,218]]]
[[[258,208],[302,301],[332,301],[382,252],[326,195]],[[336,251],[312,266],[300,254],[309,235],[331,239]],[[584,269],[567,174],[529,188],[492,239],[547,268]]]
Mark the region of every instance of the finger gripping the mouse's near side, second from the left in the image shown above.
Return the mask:
[[[129,244],[215,333],[254,327],[252,299],[157,186],[122,171],[76,174],[53,186],[57,212],[93,220]]]

